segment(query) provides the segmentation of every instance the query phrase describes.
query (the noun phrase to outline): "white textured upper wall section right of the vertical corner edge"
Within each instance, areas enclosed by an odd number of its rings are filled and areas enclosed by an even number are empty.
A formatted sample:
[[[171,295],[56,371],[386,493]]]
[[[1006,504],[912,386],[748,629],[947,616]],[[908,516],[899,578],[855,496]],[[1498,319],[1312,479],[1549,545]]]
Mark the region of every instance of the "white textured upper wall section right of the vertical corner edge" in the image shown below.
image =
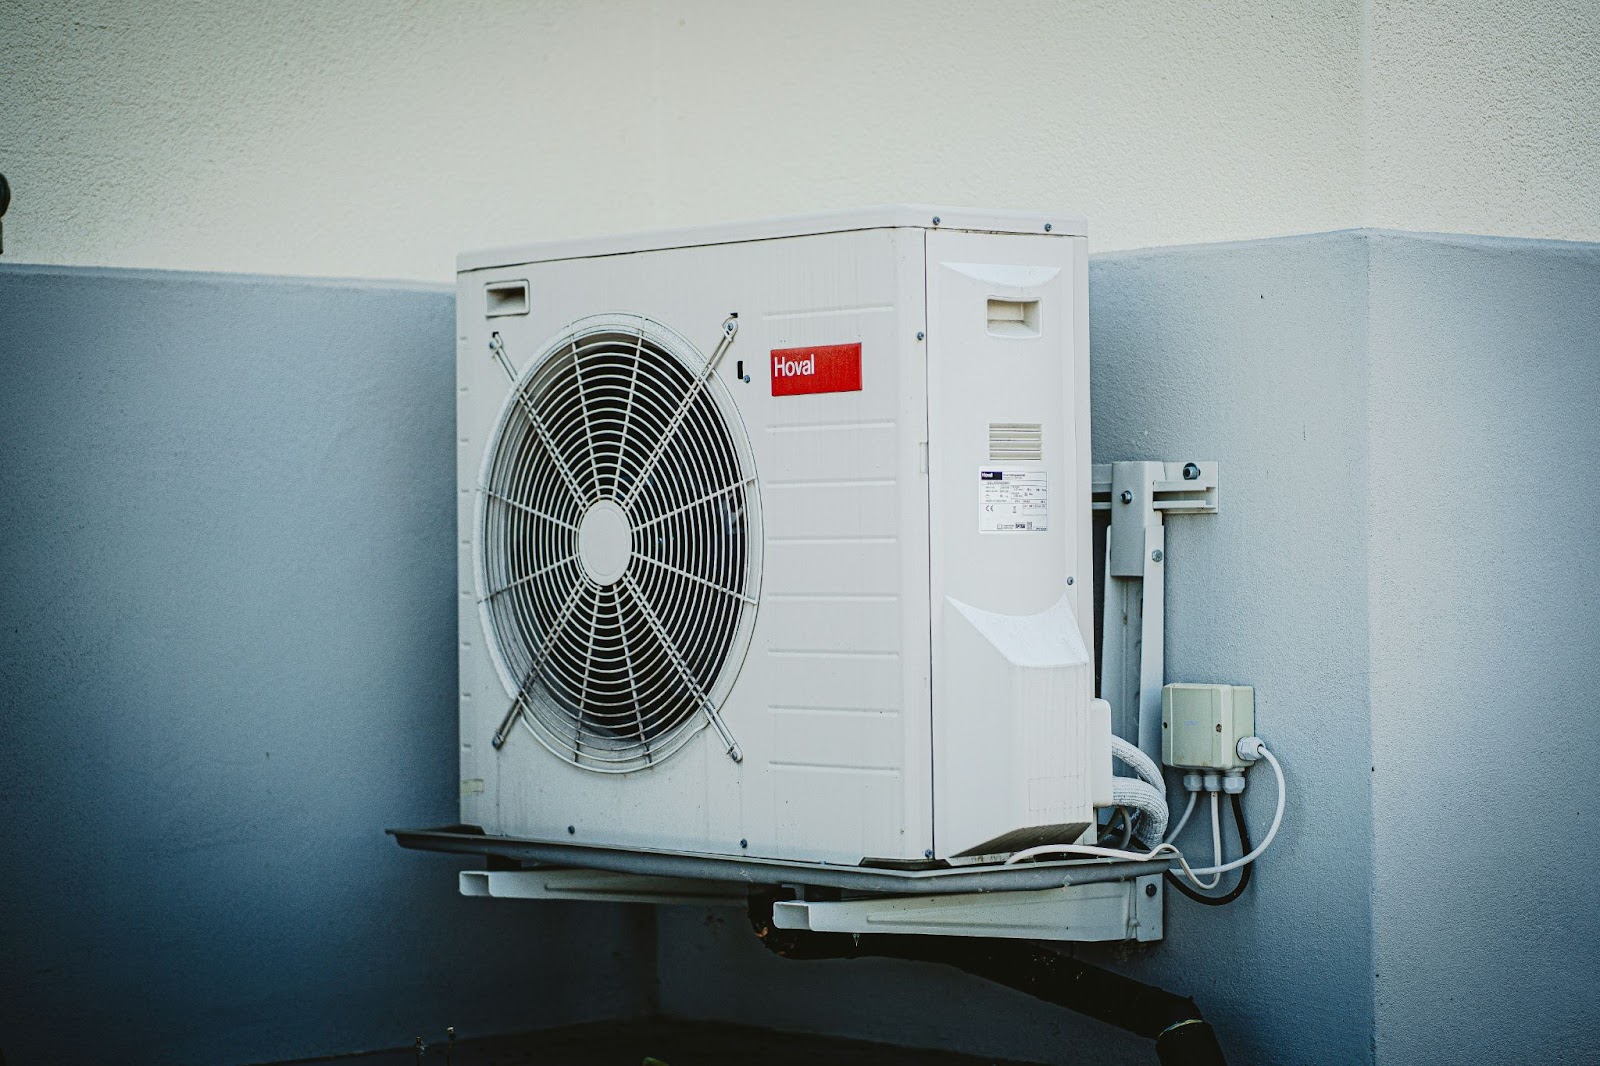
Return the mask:
[[[1600,0],[1373,0],[1362,221],[1600,240]]]

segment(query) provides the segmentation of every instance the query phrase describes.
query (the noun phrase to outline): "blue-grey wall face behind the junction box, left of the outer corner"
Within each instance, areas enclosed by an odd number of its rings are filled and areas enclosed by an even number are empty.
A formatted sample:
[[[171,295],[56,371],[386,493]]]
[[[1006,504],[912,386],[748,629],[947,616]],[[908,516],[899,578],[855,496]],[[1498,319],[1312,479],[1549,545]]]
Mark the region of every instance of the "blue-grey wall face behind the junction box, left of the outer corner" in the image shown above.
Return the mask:
[[[1166,677],[1254,685],[1290,778],[1246,896],[1170,893],[1165,943],[1126,967],[1195,996],[1238,1061],[1370,1055],[1365,282],[1349,234],[1109,256],[1090,277],[1094,458],[1221,463],[1219,512],[1168,523]],[[1250,779],[1259,837],[1275,786]]]

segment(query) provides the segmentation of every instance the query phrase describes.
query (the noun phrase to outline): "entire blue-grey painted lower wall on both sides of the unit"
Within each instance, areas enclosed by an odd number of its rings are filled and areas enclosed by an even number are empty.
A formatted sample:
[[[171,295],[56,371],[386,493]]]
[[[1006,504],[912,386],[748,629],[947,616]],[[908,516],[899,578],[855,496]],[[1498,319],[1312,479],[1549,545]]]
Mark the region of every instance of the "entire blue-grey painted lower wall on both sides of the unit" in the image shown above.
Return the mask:
[[[1168,675],[1290,771],[1245,900],[1088,957],[1240,1063],[1587,1061],[1600,251],[1328,234],[1091,266],[1094,450],[1222,463]],[[451,301],[0,269],[0,1048],[226,1063],[651,1008],[1043,1061],[1149,1045],[742,916],[454,896]],[[269,754],[270,752],[270,754]],[[1264,826],[1272,787],[1248,794]],[[659,992],[654,983],[659,981]]]

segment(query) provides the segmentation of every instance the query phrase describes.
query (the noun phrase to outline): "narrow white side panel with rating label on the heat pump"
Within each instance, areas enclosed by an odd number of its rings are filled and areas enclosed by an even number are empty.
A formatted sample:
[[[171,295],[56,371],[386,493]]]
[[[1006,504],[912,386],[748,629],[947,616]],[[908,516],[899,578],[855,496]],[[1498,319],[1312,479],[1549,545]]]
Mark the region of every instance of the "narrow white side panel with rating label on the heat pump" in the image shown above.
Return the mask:
[[[1083,243],[928,234],[941,858],[1075,839],[1090,760],[1109,760],[1090,709]]]

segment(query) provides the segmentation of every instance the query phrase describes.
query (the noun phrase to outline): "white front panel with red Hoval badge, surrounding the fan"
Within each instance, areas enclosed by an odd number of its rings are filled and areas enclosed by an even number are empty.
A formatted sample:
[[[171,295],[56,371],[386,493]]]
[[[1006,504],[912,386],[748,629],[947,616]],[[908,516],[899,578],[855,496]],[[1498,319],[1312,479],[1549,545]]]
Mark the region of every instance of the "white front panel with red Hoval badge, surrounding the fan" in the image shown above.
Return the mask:
[[[861,230],[461,275],[464,823],[845,863],[933,847],[923,243],[922,230]],[[490,338],[520,373],[570,323],[608,312],[664,323],[701,357],[738,314],[714,373],[760,479],[758,605],[720,707],[741,762],[714,728],[627,773],[579,768],[522,727],[501,749],[490,743],[512,703],[486,645],[474,554],[483,455],[510,395]],[[605,477],[576,491],[595,506],[618,495]],[[552,533],[550,551],[562,536],[576,533]],[[574,592],[579,610],[630,595],[610,562],[586,571],[595,587]],[[614,562],[635,565],[626,552]]]

